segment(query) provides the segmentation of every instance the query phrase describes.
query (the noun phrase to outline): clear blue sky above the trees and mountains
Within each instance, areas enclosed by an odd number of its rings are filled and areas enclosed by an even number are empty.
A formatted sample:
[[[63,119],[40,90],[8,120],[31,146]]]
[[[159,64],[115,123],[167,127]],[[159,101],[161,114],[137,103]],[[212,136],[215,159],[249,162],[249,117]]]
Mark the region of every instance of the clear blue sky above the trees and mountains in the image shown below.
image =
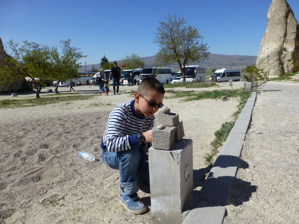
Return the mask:
[[[112,3],[113,2],[113,3]],[[299,20],[299,0],[287,0]],[[195,26],[214,54],[257,56],[271,0],[99,1],[0,0],[0,37],[59,46],[71,39],[88,57],[82,65],[120,60],[132,53],[154,56],[159,21],[168,14]]]

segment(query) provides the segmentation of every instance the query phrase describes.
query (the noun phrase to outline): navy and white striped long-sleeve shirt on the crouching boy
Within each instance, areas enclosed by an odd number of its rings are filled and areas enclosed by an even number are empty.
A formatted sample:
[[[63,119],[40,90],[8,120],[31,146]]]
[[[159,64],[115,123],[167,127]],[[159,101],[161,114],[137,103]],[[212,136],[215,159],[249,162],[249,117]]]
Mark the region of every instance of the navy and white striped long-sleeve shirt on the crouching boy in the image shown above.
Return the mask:
[[[154,127],[155,117],[139,116],[134,109],[135,99],[117,105],[109,114],[103,144],[110,152],[139,146],[138,134]],[[143,145],[148,151],[150,144]]]

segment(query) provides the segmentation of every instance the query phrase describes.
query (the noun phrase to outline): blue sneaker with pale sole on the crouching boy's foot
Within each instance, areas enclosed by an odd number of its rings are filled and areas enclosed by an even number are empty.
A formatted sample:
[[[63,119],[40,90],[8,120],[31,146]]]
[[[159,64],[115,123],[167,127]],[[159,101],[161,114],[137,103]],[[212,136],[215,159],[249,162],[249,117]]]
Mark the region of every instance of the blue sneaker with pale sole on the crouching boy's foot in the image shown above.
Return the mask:
[[[120,203],[132,214],[141,214],[147,211],[147,207],[139,200],[137,193],[126,195],[123,191],[120,192]]]

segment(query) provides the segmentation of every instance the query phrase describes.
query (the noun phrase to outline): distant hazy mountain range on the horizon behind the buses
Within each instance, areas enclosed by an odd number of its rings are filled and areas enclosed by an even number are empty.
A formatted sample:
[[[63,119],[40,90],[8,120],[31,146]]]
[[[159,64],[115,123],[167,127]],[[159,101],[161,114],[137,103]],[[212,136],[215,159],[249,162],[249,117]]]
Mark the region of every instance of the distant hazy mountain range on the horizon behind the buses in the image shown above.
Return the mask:
[[[144,61],[145,67],[152,67],[155,61],[155,56],[142,57],[140,58]],[[248,65],[255,65],[257,60],[257,56],[247,56],[247,55],[224,55],[224,54],[210,54],[209,59],[196,63],[193,62],[189,65],[200,65],[207,69],[212,68],[245,68]],[[122,64],[121,60],[115,60],[118,64]],[[86,71],[90,71],[92,67],[96,69],[100,69],[99,64],[86,65]],[[167,65],[167,67],[172,70],[179,70],[178,63],[173,63],[171,65]],[[85,65],[83,65],[80,71],[85,71]]]

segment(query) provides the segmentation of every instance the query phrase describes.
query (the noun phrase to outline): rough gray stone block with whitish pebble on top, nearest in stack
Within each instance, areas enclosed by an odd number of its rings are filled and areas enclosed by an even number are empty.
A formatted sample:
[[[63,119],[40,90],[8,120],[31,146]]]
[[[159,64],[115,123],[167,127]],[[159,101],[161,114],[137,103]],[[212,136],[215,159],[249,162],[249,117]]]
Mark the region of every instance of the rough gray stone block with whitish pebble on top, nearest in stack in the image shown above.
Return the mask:
[[[164,126],[158,129],[156,126],[152,129],[152,146],[155,149],[170,150],[174,144],[174,134],[176,127]]]

